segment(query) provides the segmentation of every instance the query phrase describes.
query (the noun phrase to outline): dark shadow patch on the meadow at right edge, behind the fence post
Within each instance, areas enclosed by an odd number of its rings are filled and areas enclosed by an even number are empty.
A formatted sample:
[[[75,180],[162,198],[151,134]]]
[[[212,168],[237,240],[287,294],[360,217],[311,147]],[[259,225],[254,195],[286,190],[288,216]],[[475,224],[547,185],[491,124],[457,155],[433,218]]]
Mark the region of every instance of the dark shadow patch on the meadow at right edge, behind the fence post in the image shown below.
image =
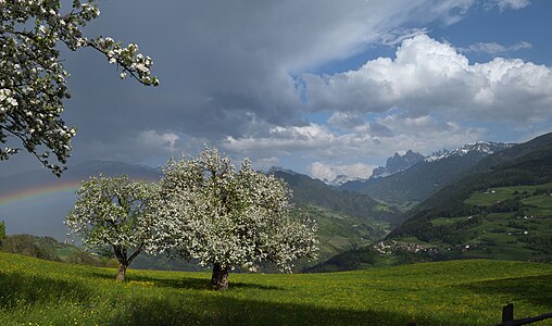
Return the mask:
[[[512,297],[552,311],[552,274],[485,280],[459,287],[477,293]]]

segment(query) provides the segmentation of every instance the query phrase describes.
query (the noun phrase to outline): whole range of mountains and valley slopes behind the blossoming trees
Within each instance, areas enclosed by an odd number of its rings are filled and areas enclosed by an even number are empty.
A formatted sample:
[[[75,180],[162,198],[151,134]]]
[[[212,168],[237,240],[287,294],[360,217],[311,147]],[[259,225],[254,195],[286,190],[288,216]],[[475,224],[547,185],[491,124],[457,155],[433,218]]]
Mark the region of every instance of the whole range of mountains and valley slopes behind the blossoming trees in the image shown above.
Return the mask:
[[[9,234],[63,240],[76,188],[99,173],[152,181],[162,176],[159,168],[89,161],[71,166],[62,178],[45,171],[0,177],[0,220]],[[552,134],[519,145],[477,142],[430,156],[394,154],[378,177],[340,187],[281,167],[268,173],[289,185],[293,214],[318,222],[321,256],[329,260],[311,271],[463,256],[552,258],[547,249],[552,248]],[[392,254],[382,255],[386,250]],[[147,260],[140,267],[152,264],[166,261]]]

